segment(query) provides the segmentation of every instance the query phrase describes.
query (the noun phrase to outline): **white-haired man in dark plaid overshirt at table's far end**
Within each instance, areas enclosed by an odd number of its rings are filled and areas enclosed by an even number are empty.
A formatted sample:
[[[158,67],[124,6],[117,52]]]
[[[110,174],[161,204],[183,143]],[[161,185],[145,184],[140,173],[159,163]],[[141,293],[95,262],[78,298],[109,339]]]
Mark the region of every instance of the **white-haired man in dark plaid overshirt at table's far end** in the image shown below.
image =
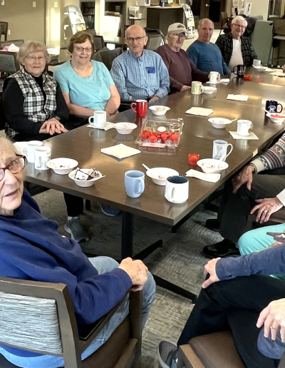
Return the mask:
[[[231,29],[231,33],[221,34],[216,41],[224,62],[230,71],[236,65],[252,66],[254,58],[258,58],[258,56],[250,39],[242,36],[247,29],[247,21],[242,16],[236,16],[232,20]]]

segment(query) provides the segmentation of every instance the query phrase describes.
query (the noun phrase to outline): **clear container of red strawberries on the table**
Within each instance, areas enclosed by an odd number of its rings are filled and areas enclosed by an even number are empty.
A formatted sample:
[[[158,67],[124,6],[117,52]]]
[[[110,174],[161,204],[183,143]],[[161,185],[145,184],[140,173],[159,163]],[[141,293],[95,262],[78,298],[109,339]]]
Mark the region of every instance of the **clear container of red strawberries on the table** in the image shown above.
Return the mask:
[[[176,148],[179,145],[183,119],[145,118],[136,143],[145,147]]]

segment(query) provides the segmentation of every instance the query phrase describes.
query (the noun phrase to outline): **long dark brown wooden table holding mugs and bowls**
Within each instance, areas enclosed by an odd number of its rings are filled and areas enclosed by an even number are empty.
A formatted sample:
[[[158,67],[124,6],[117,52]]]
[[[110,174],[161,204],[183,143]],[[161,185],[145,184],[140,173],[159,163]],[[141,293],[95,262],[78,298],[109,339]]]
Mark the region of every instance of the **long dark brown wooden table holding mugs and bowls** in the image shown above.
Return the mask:
[[[118,160],[100,152],[118,143],[124,143],[130,147],[136,147],[135,139],[140,133],[143,118],[137,118],[133,111],[118,113],[110,121],[131,121],[138,128],[128,136],[118,134],[115,129],[100,131],[98,129],[83,126],[74,131],[64,133],[49,139],[52,157],[69,157],[78,160],[81,168],[95,167],[100,170],[105,178],[98,180],[93,187],[78,187],[68,175],[57,175],[53,170],[38,171],[33,164],[26,168],[26,180],[31,183],[43,185],[48,188],[61,190],[65,193],[77,195],[88,200],[96,200],[98,203],[113,206],[123,211],[122,217],[122,250],[121,256],[133,256],[133,215],[141,215],[152,220],[157,220],[167,225],[176,225],[180,220],[189,215],[197,205],[214,192],[232,175],[237,173],[261,148],[284,131],[283,124],[270,123],[264,119],[264,101],[267,98],[284,102],[285,89],[282,86],[272,84],[244,82],[242,85],[232,81],[224,86],[218,86],[214,95],[195,96],[190,91],[176,93],[167,96],[157,104],[165,104],[170,111],[163,118],[183,118],[184,126],[180,145],[176,150],[159,150],[157,148],[140,148],[139,155]],[[247,102],[227,101],[228,93],[248,94]],[[212,108],[214,113],[211,117],[220,116],[225,118],[246,118],[253,122],[254,133],[259,140],[234,140],[229,135],[229,130],[236,131],[237,123],[232,123],[226,129],[214,129],[207,121],[208,118],[190,116],[185,111],[192,106]],[[148,118],[155,118],[150,110]],[[188,153],[199,153],[200,158],[212,157],[212,140],[226,139],[234,146],[233,153],[227,158],[229,168],[222,172],[222,177],[217,183],[207,183],[195,178],[189,178],[190,195],[187,202],[175,205],[167,202],[164,198],[164,187],[155,185],[152,180],[145,177],[145,192],[139,198],[129,198],[124,188],[124,173],[127,170],[144,170],[142,163],[149,167],[169,167],[177,170],[180,175],[185,175],[191,167],[188,163]],[[138,148],[138,147],[136,147]],[[157,247],[157,244],[155,245]],[[147,254],[147,253],[146,253]],[[180,290],[181,292],[181,290]],[[183,293],[192,297],[190,292]],[[194,297],[193,297],[194,298]]]

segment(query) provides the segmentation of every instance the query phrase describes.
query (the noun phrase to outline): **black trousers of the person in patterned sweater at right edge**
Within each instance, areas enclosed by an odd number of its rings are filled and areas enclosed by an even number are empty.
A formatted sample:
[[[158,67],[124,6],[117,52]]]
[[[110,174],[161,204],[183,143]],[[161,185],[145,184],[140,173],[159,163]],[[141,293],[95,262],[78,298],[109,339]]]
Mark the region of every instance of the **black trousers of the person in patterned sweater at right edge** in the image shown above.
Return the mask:
[[[244,233],[249,213],[257,204],[256,199],[274,198],[284,190],[285,168],[264,173],[253,175],[252,190],[248,190],[244,184],[236,194],[232,193],[232,180],[227,180],[218,213],[221,222],[219,233],[225,239],[238,242]]]

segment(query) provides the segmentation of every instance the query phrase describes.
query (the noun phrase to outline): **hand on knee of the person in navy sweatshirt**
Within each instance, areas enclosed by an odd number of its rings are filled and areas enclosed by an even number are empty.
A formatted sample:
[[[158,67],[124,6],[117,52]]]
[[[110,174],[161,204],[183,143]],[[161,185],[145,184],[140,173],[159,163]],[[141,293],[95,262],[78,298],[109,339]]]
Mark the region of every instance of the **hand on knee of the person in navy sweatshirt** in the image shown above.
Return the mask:
[[[125,258],[118,268],[121,268],[130,276],[133,287],[131,290],[142,290],[143,285],[147,282],[147,266],[141,260],[132,260],[132,258]]]

